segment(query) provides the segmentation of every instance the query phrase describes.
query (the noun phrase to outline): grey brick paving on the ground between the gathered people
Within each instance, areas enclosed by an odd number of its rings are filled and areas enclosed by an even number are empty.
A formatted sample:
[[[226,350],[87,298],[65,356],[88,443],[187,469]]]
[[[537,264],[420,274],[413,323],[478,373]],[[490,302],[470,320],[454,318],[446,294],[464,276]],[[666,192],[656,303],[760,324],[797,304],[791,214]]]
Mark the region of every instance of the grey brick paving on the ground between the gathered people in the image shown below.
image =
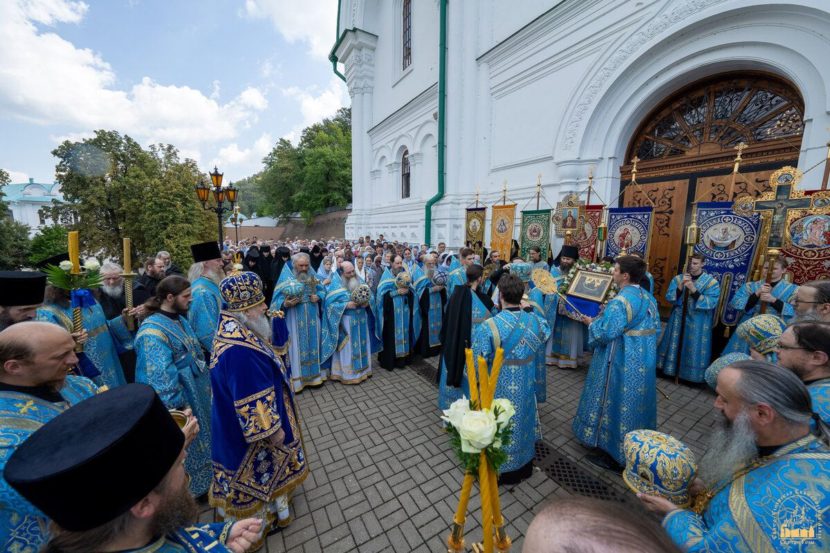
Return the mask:
[[[435,366],[437,357],[427,362]],[[540,406],[544,441],[637,504],[622,478],[584,461],[591,450],[574,439],[571,422],[586,370],[548,367],[548,400]],[[670,399],[657,394],[657,428],[681,439],[699,457],[716,420],[715,393],[706,386],[674,386],[669,379],[658,379],[658,386]],[[359,386],[328,381],[304,390],[297,405],[310,475],[295,491],[294,521],[268,538],[263,553],[447,551],[444,540],[463,473],[442,432],[432,382],[411,368],[377,368]],[[540,471],[515,487],[500,488],[513,551],[521,551],[524,533],[544,502],[567,495]],[[474,492],[471,510],[476,505],[481,503]],[[212,521],[212,516],[205,507],[202,520]],[[479,515],[468,514],[465,536],[468,546],[481,541]]]

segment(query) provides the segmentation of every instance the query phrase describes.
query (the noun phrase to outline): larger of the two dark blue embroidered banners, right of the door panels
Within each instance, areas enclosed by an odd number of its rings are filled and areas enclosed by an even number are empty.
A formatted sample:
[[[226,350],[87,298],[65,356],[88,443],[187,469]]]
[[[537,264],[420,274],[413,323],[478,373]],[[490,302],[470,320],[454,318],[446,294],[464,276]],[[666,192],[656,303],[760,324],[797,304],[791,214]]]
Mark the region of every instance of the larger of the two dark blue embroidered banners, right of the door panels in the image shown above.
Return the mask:
[[[727,326],[740,321],[742,312],[729,303],[735,292],[752,276],[761,231],[761,215],[736,215],[732,211],[733,203],[701,201],[697,204],[701,241],[695,246],[695,251],[706,255],[704,270],[720,283],[717,316]]]

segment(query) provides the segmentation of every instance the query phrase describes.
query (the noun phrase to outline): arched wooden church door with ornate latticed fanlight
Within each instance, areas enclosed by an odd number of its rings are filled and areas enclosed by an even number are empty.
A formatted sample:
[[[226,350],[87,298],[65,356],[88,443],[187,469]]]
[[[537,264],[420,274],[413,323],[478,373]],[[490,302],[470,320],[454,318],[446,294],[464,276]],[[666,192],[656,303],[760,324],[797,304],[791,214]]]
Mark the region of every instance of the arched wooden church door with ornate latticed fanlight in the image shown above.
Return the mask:
[[[769,174],[798,165],[804,103],[787,80],[765,73],[727,73],[697,81],[652,110],[628,145],[620,172],[620,206],[655,206],[649,270],[654,296],[666,317],[666,285],[683,270],[683,230],[694,201],[731,201],[769,189]],[[731,186],[737,151],[745,143],[740,174],[748,182]],[[637,184],[631,182],[631,160]],[[642,188],[642,191],[640,190]]]

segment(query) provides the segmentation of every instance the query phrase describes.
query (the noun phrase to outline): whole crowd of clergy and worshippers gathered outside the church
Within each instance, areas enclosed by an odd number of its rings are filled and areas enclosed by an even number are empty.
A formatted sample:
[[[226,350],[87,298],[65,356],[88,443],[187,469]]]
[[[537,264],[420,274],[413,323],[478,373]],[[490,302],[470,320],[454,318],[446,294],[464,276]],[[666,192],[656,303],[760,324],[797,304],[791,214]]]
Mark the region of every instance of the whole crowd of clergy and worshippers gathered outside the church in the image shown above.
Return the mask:
[[[828,280],[795,286],[779,261],[770,284],[765,274],[745,284],[732,299],[742,321],[712,361],[720,285],[701,255],[668,286],[674,308],[661,332],[638,252],[608,260],[617,294],[597,316],[579,318],[531,279],[535,269],[554,282],[568,274],[579,259],[568,245],[546,260],[538,248],[524,260],[515,243],[506,255],[476,255],[383,235],[191,250],[186,277],[167,252],[147,260],[132,281],[132,309],[123,269],[104,264],[97,301],[81,307],[81,332],[69,291],[39,272],[0,272],[3,551],[256,549],[290,524],[291,494],[309,473],[296,393],[328,380],[358,385],[372,376],[375,354],[388,371],[437,356],[436,400],[446,412],[471,396],[466,348],[487,366],[503,352],[494,395],[515,415],[500,484],[532,474],[549,367],[575,371],[590,357],[575,437],[593,449],[589,463],[622,474],[662,518],[660,530],[613,509],[592,517],[603,507],[554,504],[531,525],[526,551],[564,551],[554,542],[580,551],[673,551],[671,542],[786,551],[783,520],[786,536],[799,524],[807,532],[798,543],[814,548],[803,551],[828,550]],[[660,372],[715,389],[723,418],[697,465],[657,432]],[[216,523],[193,526],[194,498],[216,507]],[[611,530],[587,530],[598,526]],[[564,536],[568,528],[581,530]]]

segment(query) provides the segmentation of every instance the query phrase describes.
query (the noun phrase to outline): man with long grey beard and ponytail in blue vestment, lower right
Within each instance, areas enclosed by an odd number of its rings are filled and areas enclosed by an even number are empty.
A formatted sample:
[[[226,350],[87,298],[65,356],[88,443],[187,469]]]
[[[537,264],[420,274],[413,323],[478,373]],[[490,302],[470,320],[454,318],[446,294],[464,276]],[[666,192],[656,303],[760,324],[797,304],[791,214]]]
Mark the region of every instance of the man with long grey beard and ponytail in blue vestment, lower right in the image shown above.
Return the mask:
[[[689,553],[830,551],[830,428],[803,383],[750,359],[720,371],[717,393],[724,416],[697,463],[691,508],[637,497]]]

